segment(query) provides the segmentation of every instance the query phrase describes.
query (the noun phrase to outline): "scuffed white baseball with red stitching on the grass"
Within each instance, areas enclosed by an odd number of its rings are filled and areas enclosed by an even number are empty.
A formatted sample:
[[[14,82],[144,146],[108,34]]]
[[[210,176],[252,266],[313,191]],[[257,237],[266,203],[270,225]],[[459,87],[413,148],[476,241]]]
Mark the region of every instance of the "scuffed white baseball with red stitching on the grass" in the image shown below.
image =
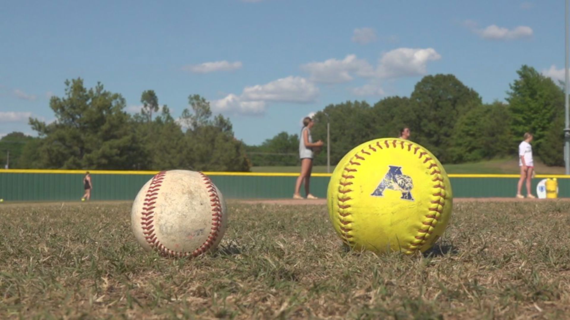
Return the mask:
[[[214,249],[227,227],[222,192],[206,175],[161,171],[145,183],[131,210],[131,227],[146,251],[198,256]]]

